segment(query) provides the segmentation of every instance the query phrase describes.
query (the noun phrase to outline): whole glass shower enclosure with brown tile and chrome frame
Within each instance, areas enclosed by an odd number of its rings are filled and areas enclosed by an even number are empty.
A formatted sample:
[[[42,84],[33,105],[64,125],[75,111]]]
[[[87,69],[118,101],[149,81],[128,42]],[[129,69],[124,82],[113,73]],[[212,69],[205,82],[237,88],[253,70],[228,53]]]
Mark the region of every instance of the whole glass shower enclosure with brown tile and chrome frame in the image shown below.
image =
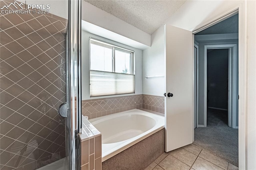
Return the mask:
[[[0,170],[50,170],[57,161],[75,169],[77,7],[0,0]]]

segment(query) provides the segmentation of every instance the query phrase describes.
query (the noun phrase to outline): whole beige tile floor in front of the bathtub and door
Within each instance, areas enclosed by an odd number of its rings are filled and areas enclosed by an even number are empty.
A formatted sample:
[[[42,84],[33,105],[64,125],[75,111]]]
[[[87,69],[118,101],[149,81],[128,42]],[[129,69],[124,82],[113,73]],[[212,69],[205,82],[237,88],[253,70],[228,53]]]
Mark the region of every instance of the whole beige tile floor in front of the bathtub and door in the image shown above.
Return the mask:
[[[145,170],[238,170],[238,167],[194,144],[164,152]]]

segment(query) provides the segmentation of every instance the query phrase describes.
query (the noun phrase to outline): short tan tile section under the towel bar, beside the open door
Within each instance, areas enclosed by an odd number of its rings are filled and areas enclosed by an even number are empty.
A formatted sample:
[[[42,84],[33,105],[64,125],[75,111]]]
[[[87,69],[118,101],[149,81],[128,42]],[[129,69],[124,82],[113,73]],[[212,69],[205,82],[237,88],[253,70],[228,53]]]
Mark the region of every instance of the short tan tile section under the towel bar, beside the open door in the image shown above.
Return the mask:
[[[153,95],[143,95],[142,100],[143,100],[142,101],[143,109],[164,113],[164,97],[153,96]]]

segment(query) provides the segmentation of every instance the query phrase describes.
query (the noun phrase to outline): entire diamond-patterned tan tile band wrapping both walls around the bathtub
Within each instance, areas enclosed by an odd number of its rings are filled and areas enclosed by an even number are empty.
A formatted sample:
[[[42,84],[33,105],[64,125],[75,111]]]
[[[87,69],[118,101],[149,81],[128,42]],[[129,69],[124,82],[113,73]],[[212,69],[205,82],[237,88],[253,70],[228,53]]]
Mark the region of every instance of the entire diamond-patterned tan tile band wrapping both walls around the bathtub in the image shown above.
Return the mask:
[[[142,108],[162,115],[162,113],[164,113],[164,97],[153,95],[130,95],[82,101],[82,115],[88,116],[88,119]]]

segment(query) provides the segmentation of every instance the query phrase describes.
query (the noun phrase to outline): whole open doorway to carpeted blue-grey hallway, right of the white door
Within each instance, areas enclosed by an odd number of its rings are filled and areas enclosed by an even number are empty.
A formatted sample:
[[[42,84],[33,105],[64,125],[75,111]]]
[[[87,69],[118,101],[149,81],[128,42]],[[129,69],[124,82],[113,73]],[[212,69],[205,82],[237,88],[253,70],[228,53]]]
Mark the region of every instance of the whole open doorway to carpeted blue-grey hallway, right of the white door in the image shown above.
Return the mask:
[[[238,166],[238,14],[194,40],[199,52],[194,51],[193,143]]]

